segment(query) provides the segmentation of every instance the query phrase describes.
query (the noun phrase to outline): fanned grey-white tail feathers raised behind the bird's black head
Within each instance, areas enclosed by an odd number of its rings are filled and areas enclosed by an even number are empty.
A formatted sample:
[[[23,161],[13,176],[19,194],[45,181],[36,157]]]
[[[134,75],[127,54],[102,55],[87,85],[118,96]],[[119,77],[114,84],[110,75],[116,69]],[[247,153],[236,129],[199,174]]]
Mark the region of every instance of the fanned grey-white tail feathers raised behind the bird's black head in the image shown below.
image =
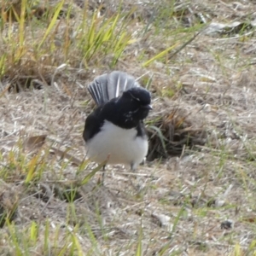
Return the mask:
[[[121,96],[125,90],[140,86],[137,81],[129,74],[113,71],[103,74],[89,84],[88,90],[91,97],[98,106],[109,100]]]

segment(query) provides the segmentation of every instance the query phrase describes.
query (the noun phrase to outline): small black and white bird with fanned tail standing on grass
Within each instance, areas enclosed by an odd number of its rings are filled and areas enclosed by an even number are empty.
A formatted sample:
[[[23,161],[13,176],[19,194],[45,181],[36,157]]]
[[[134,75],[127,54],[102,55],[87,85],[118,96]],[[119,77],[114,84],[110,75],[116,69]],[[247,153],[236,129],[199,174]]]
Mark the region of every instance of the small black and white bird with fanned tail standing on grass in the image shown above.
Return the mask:
[[[89,85],[97,108],[85,120],[84,141],[90,160],[131,166],[148,154],[148,137],[143,119],[152,109],[151,95],[129,74],[113,71]]]

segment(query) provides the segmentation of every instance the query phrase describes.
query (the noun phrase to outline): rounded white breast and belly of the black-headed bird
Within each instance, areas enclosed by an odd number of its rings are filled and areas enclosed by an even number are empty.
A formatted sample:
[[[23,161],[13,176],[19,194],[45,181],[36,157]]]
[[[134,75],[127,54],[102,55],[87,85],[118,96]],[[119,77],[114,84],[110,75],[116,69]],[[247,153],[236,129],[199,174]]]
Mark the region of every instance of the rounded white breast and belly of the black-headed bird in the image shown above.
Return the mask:
[[[133,165],[136,168],[148,154],[148,139],[137,137],[136,129],[122,129],[105,121],[102,130],[86,143],[91,160],[108,164]]]

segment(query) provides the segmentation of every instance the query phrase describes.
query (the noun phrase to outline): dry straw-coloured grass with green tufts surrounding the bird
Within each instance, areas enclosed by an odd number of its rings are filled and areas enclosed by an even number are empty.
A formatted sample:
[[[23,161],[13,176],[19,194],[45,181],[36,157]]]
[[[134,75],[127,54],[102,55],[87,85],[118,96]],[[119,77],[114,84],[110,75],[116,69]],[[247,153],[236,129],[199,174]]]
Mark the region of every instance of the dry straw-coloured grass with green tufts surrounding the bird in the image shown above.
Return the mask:
[[[0,254],[255,255],[254,27],[205,30],[172,55],[204,20],[255,20],[255,3],[125,2],[112,43],[89,50],[84,19],[113,27],[119,2],[82,2],[59,3],[61,20],[46,2],[23,21],[2,9]],[[82,131],[86,85],[112,69],[152,92],[150,161],[108,166],[102,187]]]

